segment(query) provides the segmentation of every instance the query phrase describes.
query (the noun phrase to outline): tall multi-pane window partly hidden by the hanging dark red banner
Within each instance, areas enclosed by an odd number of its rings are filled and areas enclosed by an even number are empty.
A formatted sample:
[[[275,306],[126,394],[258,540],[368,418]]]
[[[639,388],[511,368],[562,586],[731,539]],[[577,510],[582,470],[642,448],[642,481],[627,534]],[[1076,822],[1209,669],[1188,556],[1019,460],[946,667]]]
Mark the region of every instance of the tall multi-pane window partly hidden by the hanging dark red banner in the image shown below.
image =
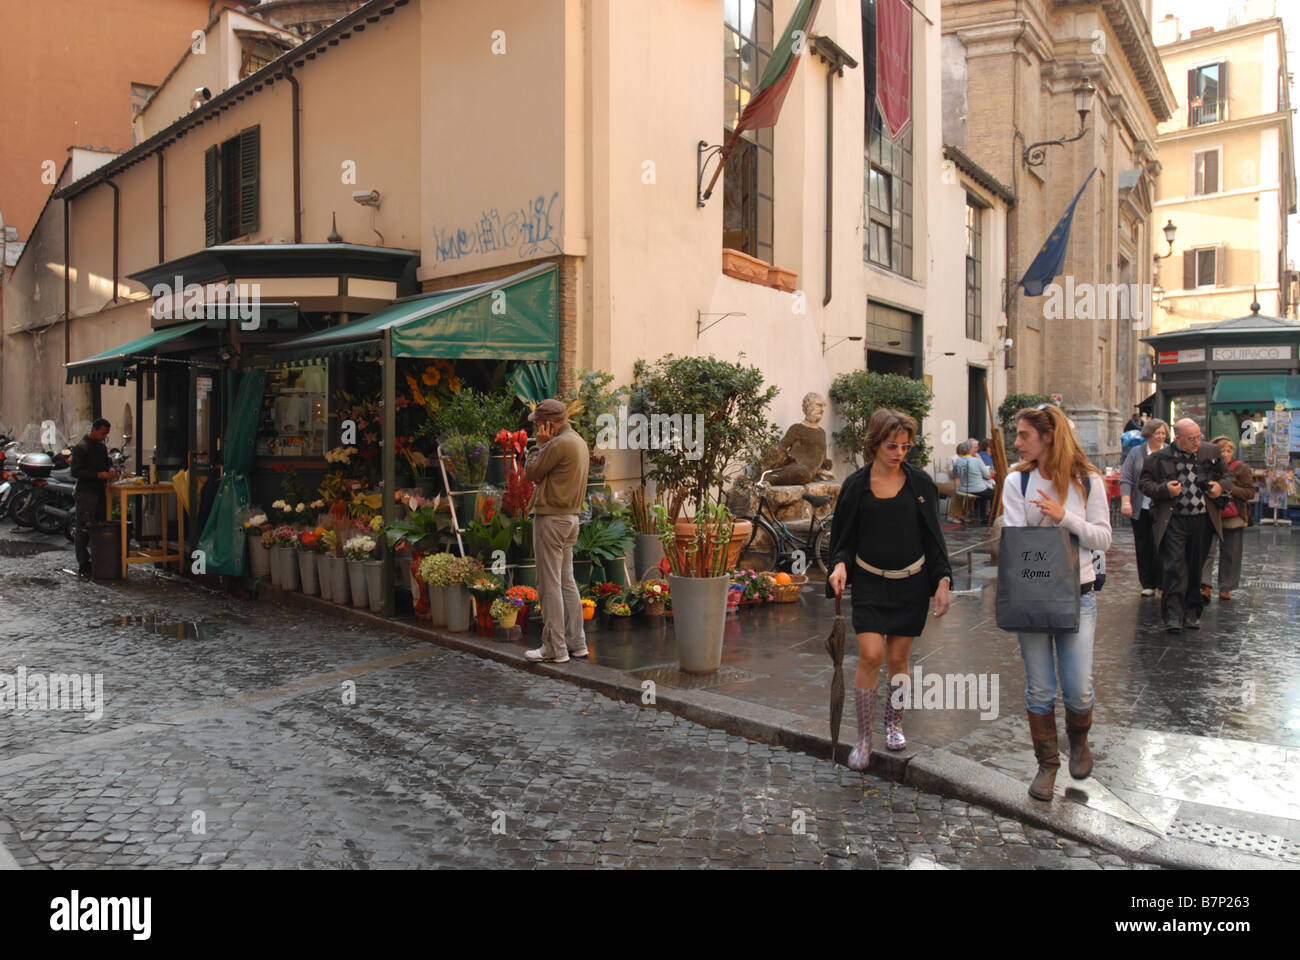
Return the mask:
[[[862,0],[862,79],[866,85],[866,243],[862,259],[911,276],[911,125],[892,140],[876,107],[876,3]]]

